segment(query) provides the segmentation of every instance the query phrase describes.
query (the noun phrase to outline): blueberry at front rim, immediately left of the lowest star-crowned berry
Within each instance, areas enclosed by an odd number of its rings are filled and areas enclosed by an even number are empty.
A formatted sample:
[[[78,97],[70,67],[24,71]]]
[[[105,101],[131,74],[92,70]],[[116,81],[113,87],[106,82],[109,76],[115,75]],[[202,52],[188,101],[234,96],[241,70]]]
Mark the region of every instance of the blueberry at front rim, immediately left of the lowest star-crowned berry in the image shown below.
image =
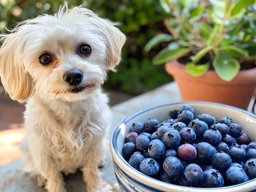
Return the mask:
[[[203,181],[203,171],[197,164],[189,164],[185,169],[185,176],[190,185],[197,186]]]

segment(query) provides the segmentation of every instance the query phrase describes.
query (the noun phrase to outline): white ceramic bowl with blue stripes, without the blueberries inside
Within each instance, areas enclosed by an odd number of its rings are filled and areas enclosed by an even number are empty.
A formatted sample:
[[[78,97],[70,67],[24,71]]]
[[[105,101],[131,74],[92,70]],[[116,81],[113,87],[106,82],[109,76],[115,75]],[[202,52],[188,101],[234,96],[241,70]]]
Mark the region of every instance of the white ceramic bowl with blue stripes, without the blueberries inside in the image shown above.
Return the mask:
[[[129,133],[133,122],[140,121],[144,123],[148,118],[156,118],[159,122],[167,119],[170,110],[179,109],[182,105],[188,104],[194,107],[195,115],[201,113],[212,114],[217,120],[221,117],[228,116],[234,123],[238,123],[243,127],[243,131],[248,133],[253,141],[256,141],[256,116],[252,113],[238,109],[235,107],[207,103],[207,102],[183,102],[163,105],[146,109],[133,114],[125,119],[115,129],[111,140],[110,147],[113,157],[113,166],[116,178],[122,191],[130,192],[256,192],[256,179],[243,184],[222,188],[191,188],[167,184],[151,177],[148,177],[139,171],[133,169],[122,157],[121,151],[124,144],[125,135]]]

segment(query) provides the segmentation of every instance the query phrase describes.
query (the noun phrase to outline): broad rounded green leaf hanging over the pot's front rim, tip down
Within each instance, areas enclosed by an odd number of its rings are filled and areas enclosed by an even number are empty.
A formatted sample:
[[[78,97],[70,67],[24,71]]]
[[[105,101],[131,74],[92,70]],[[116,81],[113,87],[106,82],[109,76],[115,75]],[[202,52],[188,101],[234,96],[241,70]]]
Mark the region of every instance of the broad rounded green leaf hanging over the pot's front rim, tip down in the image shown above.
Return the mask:
[[[222,55],[216,56],[212,65],[220,79],[224,81],[231,81],[234,79],[241,67],[236,59],[227,58]]]

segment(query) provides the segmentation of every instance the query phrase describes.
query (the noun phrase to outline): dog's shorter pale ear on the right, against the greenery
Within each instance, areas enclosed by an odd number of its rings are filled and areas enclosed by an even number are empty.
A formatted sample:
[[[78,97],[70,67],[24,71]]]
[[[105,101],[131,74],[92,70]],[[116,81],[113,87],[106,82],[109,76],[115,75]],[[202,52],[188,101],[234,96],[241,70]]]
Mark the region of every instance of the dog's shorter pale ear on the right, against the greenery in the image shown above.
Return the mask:
[[[106,68],[113,69],[115,65],[118,65],[121,58],[121,50],[125,43],[125,35],[115,27],[115,23],[102,19],[106,25],[106,33],[103,33],[106,39]]]

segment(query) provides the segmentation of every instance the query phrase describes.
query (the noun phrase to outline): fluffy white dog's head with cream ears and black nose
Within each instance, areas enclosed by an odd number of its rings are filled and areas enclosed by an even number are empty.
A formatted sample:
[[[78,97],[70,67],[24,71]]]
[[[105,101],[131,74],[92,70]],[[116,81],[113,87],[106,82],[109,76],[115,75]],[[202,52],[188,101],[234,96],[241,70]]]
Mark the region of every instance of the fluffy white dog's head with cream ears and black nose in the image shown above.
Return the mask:
[[[106,70],[120,61],[125,35],[92,11],[67,5],[1,34],[0,76],[9,96],[20,102],[76,101],[99,88]]]

